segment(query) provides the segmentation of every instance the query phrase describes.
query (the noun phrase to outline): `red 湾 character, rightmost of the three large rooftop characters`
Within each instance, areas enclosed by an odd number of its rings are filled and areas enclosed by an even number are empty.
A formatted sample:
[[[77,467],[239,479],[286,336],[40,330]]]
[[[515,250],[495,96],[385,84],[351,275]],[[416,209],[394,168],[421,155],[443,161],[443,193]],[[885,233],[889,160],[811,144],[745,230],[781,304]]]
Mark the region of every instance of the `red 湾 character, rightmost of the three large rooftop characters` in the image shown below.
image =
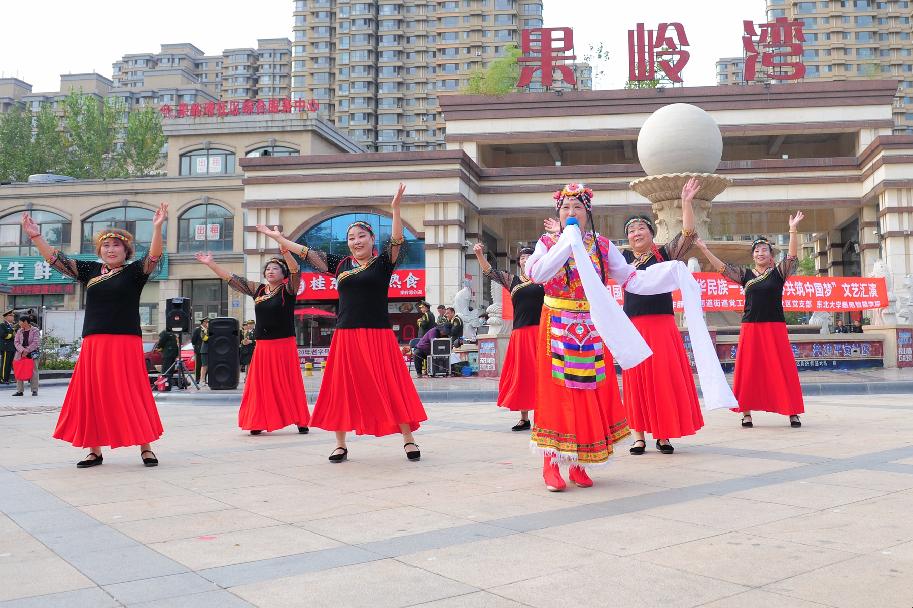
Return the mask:
[[[748,82],[754,80],[761,59],[762,67],[775,68],[775,72],[767,73],[768,77],[779,80],[798,80],[805,76],[805,64],[802,63],[805,35],[802,28],[803,21],[788,21],[786,17],[777,17],[773,23],[758,24],[755,28],[751,21],[742,22],[745,36],[742,36],[742,46],[745,48],[745,71],[743,79]],[[798,57],[799,61],[789,62],[789,57]],[[785,71],[792,68],[791,72]]]

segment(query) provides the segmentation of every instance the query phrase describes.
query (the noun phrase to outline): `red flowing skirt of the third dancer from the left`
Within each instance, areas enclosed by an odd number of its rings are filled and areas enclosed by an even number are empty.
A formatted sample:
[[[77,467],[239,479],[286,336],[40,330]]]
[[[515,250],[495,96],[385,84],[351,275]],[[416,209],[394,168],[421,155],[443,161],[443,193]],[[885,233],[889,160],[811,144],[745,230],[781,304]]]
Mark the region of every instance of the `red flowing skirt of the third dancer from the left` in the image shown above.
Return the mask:
[[[392,330],[336,330],[311,425],[383,437],[427,419]]]

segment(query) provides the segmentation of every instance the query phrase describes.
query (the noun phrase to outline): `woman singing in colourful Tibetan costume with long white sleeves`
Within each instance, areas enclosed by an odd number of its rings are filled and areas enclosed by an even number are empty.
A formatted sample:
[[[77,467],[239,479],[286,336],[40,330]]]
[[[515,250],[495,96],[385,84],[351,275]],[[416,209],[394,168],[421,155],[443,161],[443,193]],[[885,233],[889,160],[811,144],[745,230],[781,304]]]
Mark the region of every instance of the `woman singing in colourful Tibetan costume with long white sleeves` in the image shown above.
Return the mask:
[[[612,356],[624,370],[652,355],[606,290],[609,278],[635,294],[681,289],[708,408],[731,407],[735,399],[700,314],[700,288],[685,265],[672,261],[636,270],[593,230],[593,191],[568,184],[554,198],[560,223],[547,221],[546,229],[561,233],[544,234],[527,263],[530,279],[545,287],[530,448],[543,455],[547,489],[559,491],[566,487],[559,464],[570,466],[577,486],[590,487],[584,468],[607,464],[614,444],[630,435]],[[584,231],[581,222],[591,230]]]

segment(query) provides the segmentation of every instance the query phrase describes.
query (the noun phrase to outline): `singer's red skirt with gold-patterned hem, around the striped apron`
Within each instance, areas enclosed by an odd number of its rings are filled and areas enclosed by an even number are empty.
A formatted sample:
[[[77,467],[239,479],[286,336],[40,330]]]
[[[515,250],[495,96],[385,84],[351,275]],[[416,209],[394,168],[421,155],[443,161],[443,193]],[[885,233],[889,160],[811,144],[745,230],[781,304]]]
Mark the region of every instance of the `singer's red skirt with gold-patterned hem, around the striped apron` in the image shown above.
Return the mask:
[[[613,445],[631,436],[611,355],[603,347],[606,377],[595,389],[569,388],[551,376],[551,309],[542,307],[536,345],[536,423],[532,427],[533,453],[556,457],[561,464],[593,467],[607,464]]]

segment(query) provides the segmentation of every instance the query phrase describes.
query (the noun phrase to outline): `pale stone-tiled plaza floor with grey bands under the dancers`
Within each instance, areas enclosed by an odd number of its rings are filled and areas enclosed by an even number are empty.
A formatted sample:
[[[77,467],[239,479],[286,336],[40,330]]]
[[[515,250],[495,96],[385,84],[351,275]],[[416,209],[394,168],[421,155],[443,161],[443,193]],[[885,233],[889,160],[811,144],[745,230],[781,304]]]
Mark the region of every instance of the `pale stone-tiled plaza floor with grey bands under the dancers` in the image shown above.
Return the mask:
[[[909,395],[809,397],[803,428],[709,412],[550,493],[493,404],[429,404],[420,462],[352,438],[340,465],[331,433],[163,405],[161,466],[78,470],[64,390],[0,403],[2,607],[913,606]]]

